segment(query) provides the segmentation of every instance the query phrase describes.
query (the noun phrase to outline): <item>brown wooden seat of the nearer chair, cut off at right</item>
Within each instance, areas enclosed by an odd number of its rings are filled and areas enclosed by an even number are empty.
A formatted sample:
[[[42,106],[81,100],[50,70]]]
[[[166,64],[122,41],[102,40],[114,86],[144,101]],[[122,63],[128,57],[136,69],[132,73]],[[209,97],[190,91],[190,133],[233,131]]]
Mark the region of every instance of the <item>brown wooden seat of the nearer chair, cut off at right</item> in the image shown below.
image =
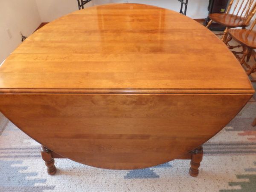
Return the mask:
[[[247,29],[229,29],[228,34],[240,44],[256,49],[256,31]]]

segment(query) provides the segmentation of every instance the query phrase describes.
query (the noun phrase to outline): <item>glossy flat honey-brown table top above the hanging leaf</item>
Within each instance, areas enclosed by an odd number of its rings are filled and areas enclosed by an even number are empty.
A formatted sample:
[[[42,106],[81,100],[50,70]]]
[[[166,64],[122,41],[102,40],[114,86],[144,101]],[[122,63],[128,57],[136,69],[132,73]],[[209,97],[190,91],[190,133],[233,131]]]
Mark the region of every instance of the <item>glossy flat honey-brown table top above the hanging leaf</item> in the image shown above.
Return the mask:
[[[143,4],[95,6],[61,17],[0,67],[0,93],[252,91],[239,62],[211,31]]]

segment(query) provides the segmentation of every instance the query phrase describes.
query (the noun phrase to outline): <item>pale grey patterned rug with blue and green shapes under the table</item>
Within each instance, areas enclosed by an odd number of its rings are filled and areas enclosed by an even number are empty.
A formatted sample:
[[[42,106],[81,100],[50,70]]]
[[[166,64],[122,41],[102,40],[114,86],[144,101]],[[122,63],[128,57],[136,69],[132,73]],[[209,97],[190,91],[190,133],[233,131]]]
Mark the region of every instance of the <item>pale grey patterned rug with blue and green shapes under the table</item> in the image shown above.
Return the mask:
[[[1,116],[0,192],[256,192],[256,100],[204,144],[198,177],[189,176],[189,160],[131,171],[85,166],[56,159],[56,175],[47,175],[40,145]]]

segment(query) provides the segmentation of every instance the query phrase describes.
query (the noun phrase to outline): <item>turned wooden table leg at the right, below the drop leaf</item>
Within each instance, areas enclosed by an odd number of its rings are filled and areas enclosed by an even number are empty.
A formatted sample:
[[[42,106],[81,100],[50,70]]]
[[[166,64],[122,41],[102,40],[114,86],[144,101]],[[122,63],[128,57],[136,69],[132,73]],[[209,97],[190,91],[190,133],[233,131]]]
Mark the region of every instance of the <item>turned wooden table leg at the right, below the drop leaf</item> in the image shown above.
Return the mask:
[[[203,160],[203,147],[200,146],[192,151],[192,158],[190,162],[189,174],[192,177],[198,176],[198,168],[200,166],[201,161]]]

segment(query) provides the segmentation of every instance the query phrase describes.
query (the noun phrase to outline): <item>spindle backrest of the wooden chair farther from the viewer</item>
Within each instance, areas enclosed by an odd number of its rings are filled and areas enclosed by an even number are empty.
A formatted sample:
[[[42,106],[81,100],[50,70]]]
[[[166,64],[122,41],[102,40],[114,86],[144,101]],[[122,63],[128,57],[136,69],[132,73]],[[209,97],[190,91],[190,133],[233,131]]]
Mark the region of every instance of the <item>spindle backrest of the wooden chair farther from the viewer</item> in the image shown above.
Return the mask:
[[[249,24],[256,13],[256,0],[230,0],[226,14],[243,17],[245,24]]]

